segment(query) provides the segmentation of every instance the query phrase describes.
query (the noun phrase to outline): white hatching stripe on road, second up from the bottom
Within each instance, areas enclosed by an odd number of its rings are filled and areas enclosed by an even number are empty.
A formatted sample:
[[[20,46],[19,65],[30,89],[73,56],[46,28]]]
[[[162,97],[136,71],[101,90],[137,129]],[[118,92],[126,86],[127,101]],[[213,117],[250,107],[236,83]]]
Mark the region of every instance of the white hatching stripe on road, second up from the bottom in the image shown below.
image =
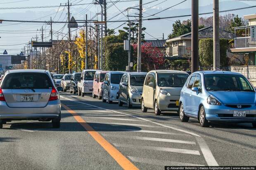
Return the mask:
[[[166,148],[166,147],[151,147],[151,146],[138,146],[135,144],[119,144],[113,143],[116,147],[126,147],[130,149],[147,149],[154,151],[166,151],[166,152],[175,152],[180,154],[192,154],[192,155],[200,155],[199,151],[190,150],[190,149],[177,149],[177,148]]]

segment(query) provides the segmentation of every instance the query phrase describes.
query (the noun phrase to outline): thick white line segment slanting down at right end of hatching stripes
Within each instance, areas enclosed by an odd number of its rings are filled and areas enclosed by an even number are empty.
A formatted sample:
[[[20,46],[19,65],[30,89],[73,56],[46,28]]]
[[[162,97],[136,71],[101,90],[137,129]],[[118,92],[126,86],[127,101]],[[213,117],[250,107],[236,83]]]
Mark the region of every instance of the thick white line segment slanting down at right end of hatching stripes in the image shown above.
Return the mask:
[[[202,137],[196,137],[196,140],[199,144],[199,147],[204,155],[205,161],[209,166],[218,166],[217,161],[215,160],[211,150],[209,149],[208,145],[206,144],[205,140]]]

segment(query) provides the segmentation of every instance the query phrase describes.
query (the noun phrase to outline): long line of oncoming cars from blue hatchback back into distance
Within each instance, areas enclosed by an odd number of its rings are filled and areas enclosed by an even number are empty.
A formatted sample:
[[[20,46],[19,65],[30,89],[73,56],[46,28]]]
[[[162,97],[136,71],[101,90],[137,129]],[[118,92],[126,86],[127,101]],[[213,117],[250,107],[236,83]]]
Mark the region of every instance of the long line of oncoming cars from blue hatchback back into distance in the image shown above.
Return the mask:
[[[102,102],[116,101],[128,108],[141,106],[142,112],[154,109],[156,115],[178,112],[181,121],[196,118],[203,127],[214,121],[252,123],[256,127],[255,88],[235,72],[199,71],[189,75],[177,70],[83,70],[55,81],[63,91],[70,89],[70,93],[81,96],[92,94]]]

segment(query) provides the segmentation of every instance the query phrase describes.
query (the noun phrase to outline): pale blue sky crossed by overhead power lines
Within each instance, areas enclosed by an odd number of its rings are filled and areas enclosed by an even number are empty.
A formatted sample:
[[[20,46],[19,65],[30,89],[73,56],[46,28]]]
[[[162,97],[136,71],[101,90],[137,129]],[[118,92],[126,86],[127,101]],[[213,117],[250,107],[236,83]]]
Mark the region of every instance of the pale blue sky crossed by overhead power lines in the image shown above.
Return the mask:
[[[133,7],[138,5],[139,1],[134,0],[130,2],[117,2],[117,0],[107,0],[107,18],[110,19],[116,14],[119,14],[120,11],[123,11],[127,7]],[[124,1],[124,0],[120,0]],[[152,2],[153,0],[142,0],[142,4],[147,2]],[[183,0],[155,0],[152,3],[147,5],[143,5],[143,17],[149,16],[150,14],[154,14],[163,9],[171,7]],[[59,6],[60,4],[64,5],[67,0],[0,0],[0,8],[4,7],[34,7],[34,6]],[[85,18],[85,14],[88,15],[88,19],[91,19],[95,16],[96,13],[101,13],[100,5],[95,4],[86,4],[86,5],[78,5],[85,3],[92,3],[93,0],[70,0],[73,6],[71,6],[71,16],[74,16],[75,19],[83,20]],[[115,5],[113,5],[113,2]],[[200,12],[209,12],[212,9],[213,0],[199,0],[199,13]],[[220,0],[220,10],[225,9],[233,9],[239,7],[248,7],[256,5],[256,1],[248,1],[248,0]],[[239,16],[242,17],[244,14],[253,14],[254,9],[251,10],[241,10],[237,11]],[[136,9],[131,10],[130,14],[136,13]],[[52,8],[36,8],[36,9],[0,9],[0,20],[8,19],[8,20],[34,20],[34,21],[49,21],[52,16],[53,21],[66,21],[66,7],[52,7]],[[236,12],[233,12],[236,14]],[[119,14],[114,17],[113,21],[116,20],[127,20],[126,13]],[[177,5],[171,9],[168,9],[164,12],[159,13],[155,17],[163,17],[163,16],[175,16],[175,15],[184,15],[191,14],[191,0],[187,0],[180,5]],[[99,17],[99,18],[97,18]],[[151,16],[154,17],[154,16]],[[143,22],[143,26],[147,28],[145,35],[145,39],[154,39],[161,38],[164,33],[165,38],[172,30],[172,24],[175,20],[185,20],[187,18],[175,18],[175,19],[166,19],[166,20],[154,20],[154,21],[145,21]],[[100,20],[100,15],[96,16],[94,19]],[[107,20],[108,20],[107,19]],[[124,25],[121,25],[124,24]],[[36,37],[38,35],[38,39],[41,39],[41,31],[40,29],[43,26],[43,36],[44,41],[50,40],[50,26],[43,23],[14,23],[14,22],[2,22],[0,23],[0,53],[2,53],[5,49],[8,54],[16,55],[19,54],[21,48],[24,48],[24,43],[28,43],[31,38]],[[125,26],[125,23],[108,23],[108,28],[116,28],[116,32],[122,27]],[[64,26],[64,23],[55,23],[53,24],[53,39],[62,39],[62,37],[67,36],[67,26]],[[78,30],[72,29],[72,35],[78,34]],[[35,39],[33,39],[35,40]],[[16,45],[21,44],[21,45]]]

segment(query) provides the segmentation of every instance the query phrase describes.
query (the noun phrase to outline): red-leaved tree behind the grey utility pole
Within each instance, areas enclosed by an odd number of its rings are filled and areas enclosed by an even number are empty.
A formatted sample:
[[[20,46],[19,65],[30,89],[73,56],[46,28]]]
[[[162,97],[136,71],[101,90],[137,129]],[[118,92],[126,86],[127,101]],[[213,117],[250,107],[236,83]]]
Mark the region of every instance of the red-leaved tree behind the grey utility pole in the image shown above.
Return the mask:
[[[137,59],[137,44],[132,44],[134,56]],[[137,61],[137,60],[136,60]],[[157,47],[152,47],[152,43],[143,43],[141,46],[142,70],[157,70],[164,65],[164,52]]]

